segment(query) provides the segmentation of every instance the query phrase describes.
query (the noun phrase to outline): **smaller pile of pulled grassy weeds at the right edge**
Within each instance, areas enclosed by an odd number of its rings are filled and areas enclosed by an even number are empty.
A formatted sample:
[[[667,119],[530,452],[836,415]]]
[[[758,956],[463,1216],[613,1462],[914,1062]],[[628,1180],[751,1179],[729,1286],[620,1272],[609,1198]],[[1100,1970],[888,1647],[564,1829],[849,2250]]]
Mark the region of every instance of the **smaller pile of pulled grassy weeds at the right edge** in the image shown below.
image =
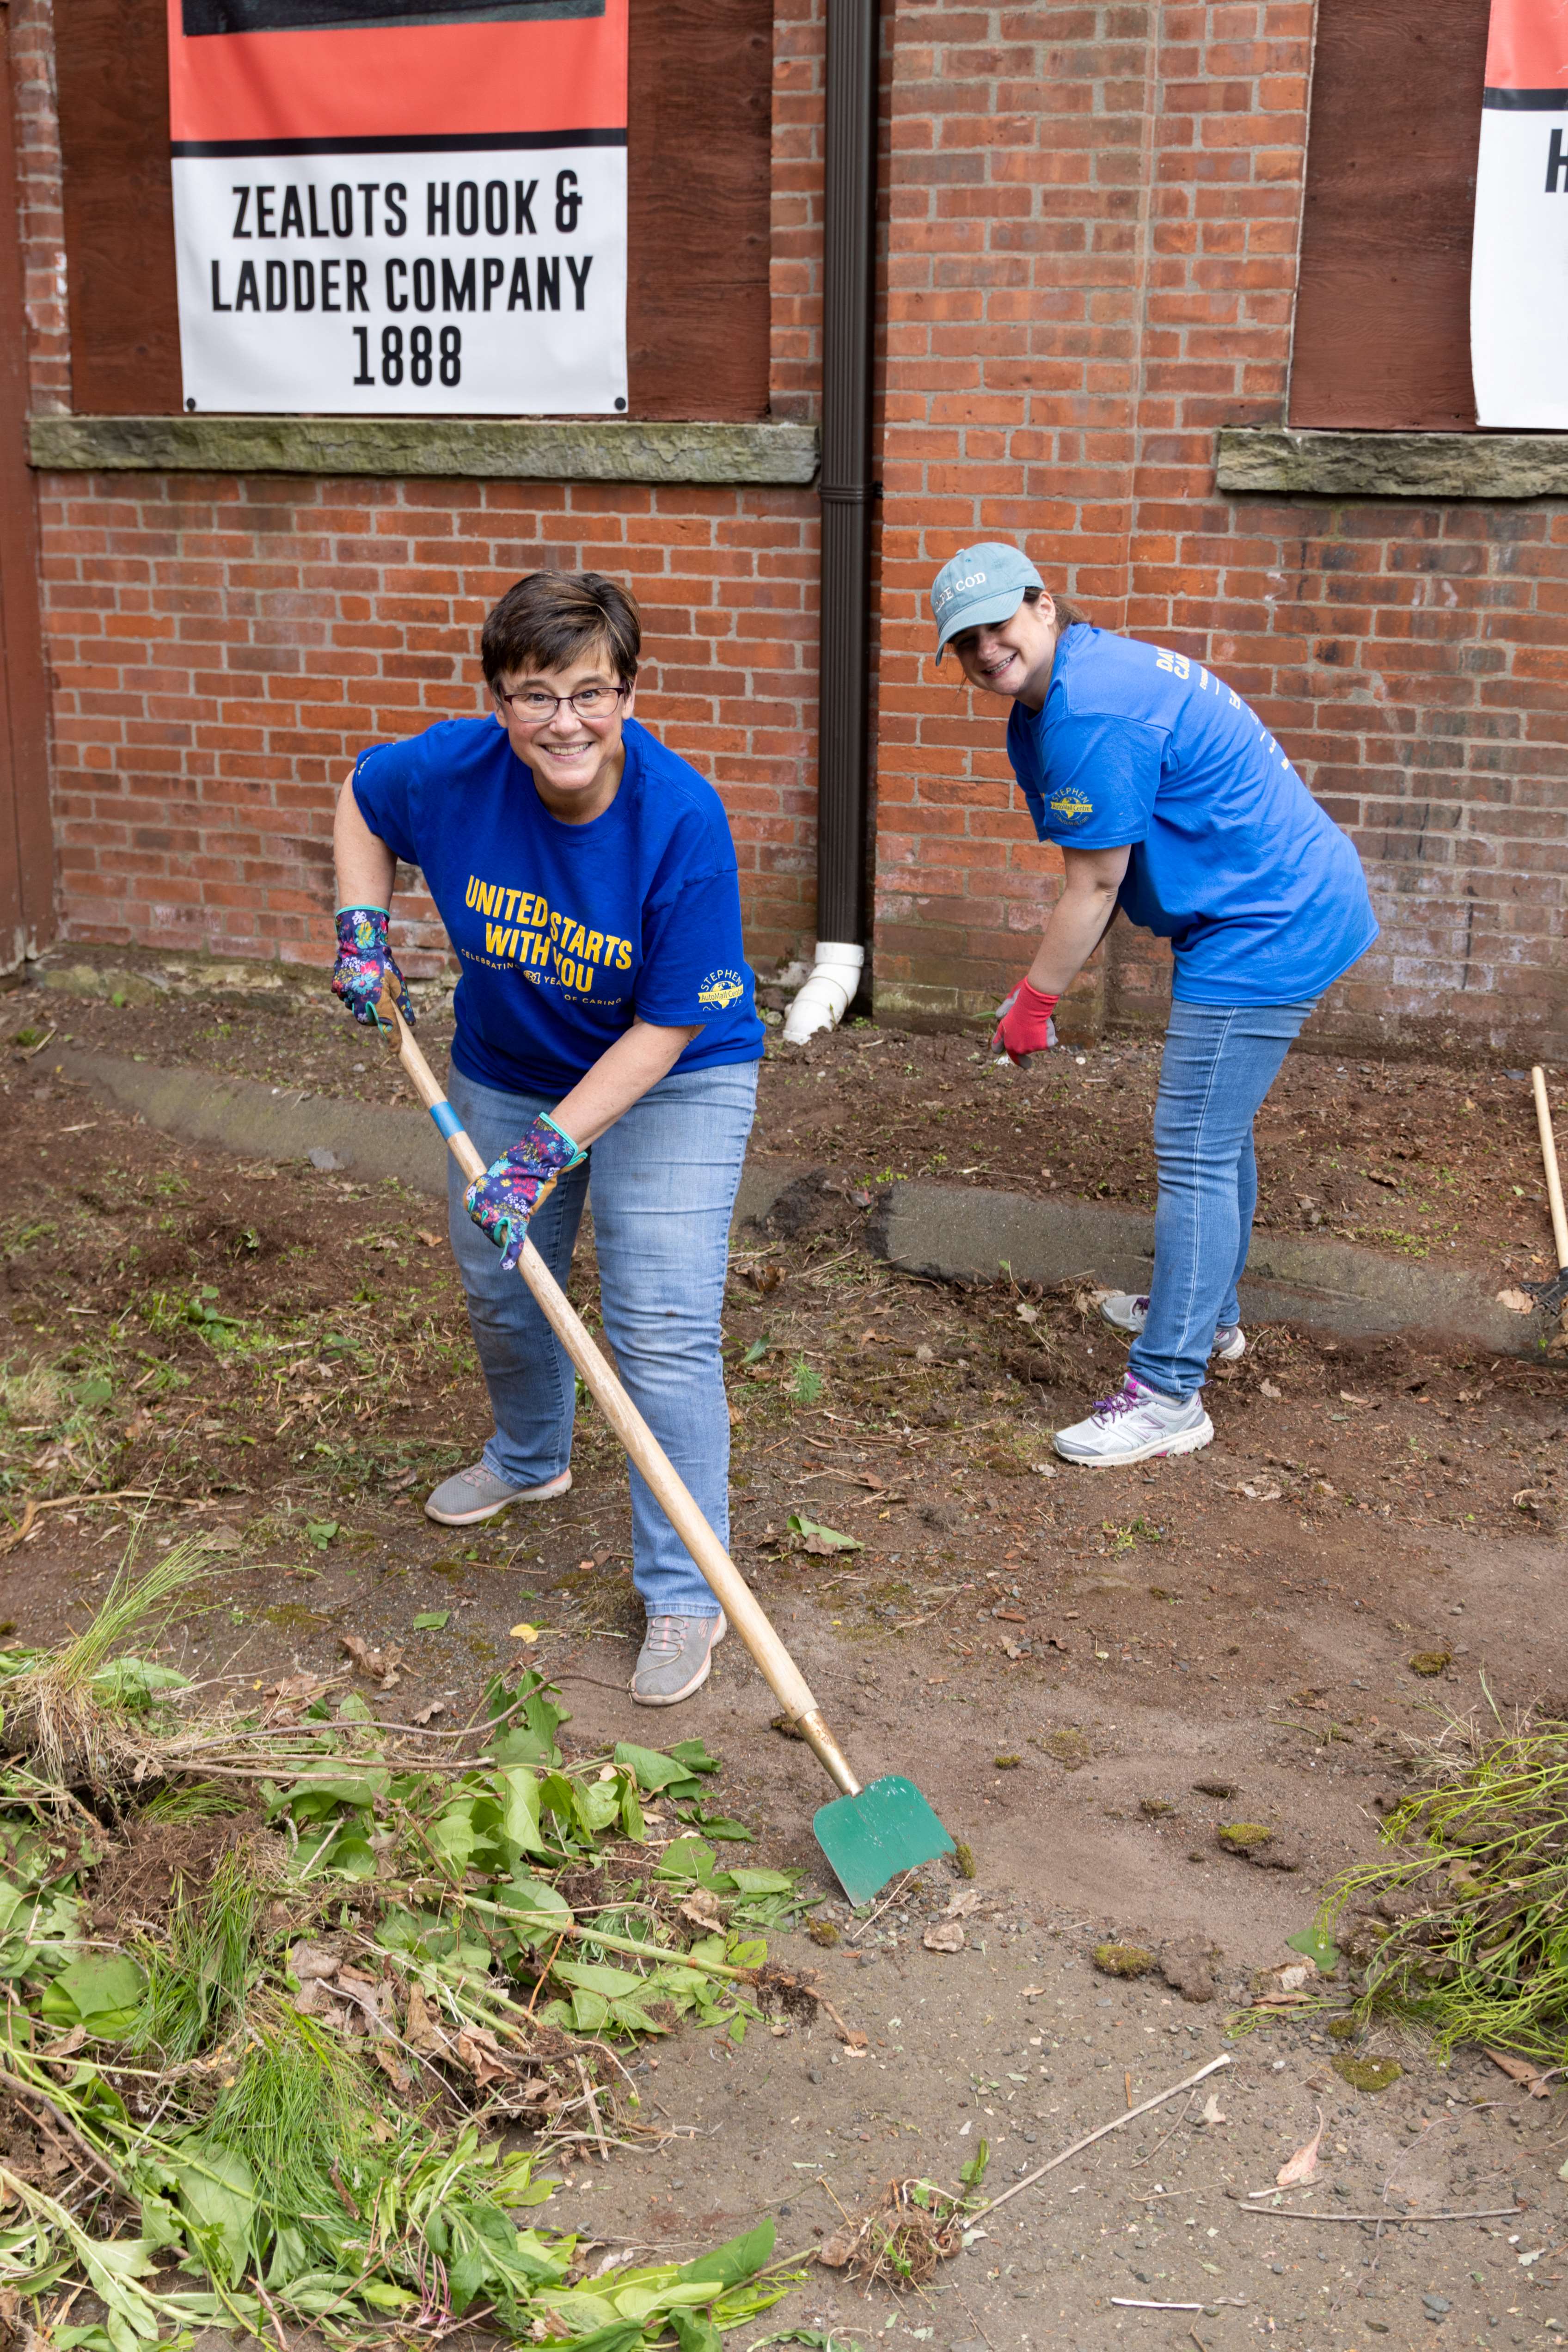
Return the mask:
[[[1363,1973],[1361,2011],[1568,2060],[1568,1722],[1450,1726],[1389,1813],[1394,1853],[1347,1872],[1319,1926]]]

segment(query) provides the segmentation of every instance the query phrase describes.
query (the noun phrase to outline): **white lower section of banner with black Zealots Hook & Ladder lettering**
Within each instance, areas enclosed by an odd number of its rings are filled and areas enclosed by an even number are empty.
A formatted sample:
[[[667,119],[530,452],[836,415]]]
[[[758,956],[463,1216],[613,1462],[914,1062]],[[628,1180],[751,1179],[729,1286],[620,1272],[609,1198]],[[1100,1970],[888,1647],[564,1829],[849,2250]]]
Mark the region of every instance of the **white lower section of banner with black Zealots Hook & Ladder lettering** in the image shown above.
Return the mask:
[[[625,146],[176,155],[188,409],[625,412]]]

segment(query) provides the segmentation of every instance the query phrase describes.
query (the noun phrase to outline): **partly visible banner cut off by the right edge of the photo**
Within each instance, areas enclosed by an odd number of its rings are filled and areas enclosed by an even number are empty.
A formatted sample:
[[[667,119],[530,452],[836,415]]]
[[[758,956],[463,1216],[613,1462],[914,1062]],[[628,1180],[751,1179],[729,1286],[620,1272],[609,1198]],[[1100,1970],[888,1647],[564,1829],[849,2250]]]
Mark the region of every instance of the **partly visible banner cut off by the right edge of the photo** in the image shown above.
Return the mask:
[[[1476,421],[1568,430],[1568,14],[1493,0],[1469,261]]]

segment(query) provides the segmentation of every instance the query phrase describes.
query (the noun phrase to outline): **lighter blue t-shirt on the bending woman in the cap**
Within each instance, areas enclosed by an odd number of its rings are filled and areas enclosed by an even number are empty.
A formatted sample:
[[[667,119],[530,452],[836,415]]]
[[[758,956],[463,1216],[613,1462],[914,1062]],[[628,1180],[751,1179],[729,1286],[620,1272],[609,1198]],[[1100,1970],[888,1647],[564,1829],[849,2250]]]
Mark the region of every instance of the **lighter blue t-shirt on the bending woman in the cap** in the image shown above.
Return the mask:
[[[1354,842],[1185,654],[1074,623],[1006,755],[1041,842],[1131,844],[1117,896],[1171,941],[1180,1004],[1302,1004],[1378,936]]]

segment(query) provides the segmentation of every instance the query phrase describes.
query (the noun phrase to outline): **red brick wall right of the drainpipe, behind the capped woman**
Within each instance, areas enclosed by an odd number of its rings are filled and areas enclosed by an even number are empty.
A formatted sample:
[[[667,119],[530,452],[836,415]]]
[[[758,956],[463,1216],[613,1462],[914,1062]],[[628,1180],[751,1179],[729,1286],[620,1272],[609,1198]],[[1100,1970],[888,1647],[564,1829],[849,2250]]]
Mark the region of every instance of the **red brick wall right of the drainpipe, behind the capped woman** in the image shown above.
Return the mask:
[[[1213,492],[1215,428],[1284,416],[1307,0],[896,21],[879,1004],[990,1009],[1056,891],[1004,708],[929,659],[931,574],[997,536],[1211,663],[1352,830],[1382,941],[1324,1025],[1568,1049],[1568,517]],[[1074,1014],[1161,993],[1117,927]]]

